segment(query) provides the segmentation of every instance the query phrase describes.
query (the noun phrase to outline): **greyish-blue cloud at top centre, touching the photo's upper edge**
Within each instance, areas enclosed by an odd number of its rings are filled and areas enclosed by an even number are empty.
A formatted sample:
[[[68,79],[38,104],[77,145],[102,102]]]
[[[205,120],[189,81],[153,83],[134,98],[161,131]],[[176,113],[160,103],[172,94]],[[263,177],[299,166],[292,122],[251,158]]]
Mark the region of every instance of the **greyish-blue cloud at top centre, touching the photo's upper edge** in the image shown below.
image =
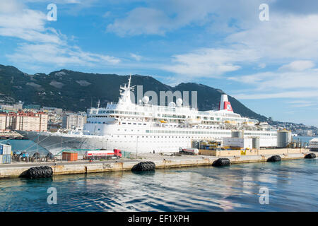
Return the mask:
[[[211,29],[227,27],[233,15],[240,18],[258,16],[259,4],[263,0],[235,0],[224,4],[218,0],[160,0],[143,1],[143,7],[137,7],[126,13],[126,17],[117,18],[107,26],[108,32],[125,35],[165,35],[166,32],[187,25],[211,25]],[[256,18],[256,17],[255,17]],[[257,17],[258,18],[258,17]],[[221,28],[221,29],[224,29]],[[223,30],[218,30],[223,32]]]

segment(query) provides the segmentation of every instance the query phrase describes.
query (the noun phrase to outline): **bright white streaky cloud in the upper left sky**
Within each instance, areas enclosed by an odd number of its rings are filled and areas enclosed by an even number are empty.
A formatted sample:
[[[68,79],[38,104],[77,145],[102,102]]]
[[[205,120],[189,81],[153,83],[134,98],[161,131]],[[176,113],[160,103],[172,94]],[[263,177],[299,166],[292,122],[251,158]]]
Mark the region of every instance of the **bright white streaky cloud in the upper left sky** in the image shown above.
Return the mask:
[[[64,3],[76,3],[76,1],[64,1]],[[6,10],[1,11],[1,6],[5,6]],[[81,48],[69,44],[66,35],[47,27],[45,13],[28,9],[18,1],[1,0],[0,35],[23,40],[12,54],[6,55],[16,64],[32,63],[30,67],[41,64],[96,66],[117,64],[120,61],[107,54],[84,52]]]

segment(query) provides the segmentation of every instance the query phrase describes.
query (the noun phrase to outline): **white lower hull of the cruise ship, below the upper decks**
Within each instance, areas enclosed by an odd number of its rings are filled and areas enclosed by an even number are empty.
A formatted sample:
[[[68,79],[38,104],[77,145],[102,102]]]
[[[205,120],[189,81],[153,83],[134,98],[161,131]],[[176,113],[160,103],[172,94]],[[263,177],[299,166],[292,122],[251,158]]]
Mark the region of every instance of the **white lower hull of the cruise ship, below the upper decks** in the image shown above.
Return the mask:
[[[215,131],[218,136],[179,136],[174,134],[109,134],[105,136],[77,135],[49,132],[25,132],[18,131],[21,135],[38,143],[53,155],[62,150],[74,149],[100,149],[112,150],[114,148],[130,153],[168,153],[177,152],[179,147],[189,148],[192,141],[213,140],[222,141],[223,137],[230,137],[230,130]],[[249,131],[246,131],[249,132]],[[253,131],[251,131],[253,132]],[[221,133],[221,134],[220,134]],[[261,146],[276,146],[276,136],[261,136]],[[81,151],[80,151],[81,153]]]

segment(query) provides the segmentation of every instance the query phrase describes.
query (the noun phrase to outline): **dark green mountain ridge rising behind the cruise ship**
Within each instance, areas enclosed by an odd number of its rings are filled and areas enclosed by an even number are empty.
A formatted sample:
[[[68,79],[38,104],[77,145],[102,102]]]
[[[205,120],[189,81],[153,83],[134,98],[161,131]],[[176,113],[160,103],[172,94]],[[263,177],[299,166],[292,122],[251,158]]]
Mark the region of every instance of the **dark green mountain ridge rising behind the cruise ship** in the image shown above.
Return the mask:
[[[29,75],[14,66],[0,65],[0,104],[22,100],[25,104],[86,111],[92,105],[96,106],[98,100],[101,101],[101,106],[105,106],[107,102],[117,102],[119,85],[127,81],[128,76],[82,73],[66,69],[49,74]],[[198,108],[203,111],[218,109],[220,95],[223,94],[222,90],[197,83],[180,83],[172,87],[160,83],[151,76],[131,76],[131,85],[143,85],[143,93],[148,90],[155,91],[158,93],[158,99],[160,91],[174,93],[179,90],[181,93],[189,91],[191,100],[191,91],[197,91]],[[236,113],[251,119],[268,121],[266,117],[253,112],[234,97],[229,95],[228,98]]]

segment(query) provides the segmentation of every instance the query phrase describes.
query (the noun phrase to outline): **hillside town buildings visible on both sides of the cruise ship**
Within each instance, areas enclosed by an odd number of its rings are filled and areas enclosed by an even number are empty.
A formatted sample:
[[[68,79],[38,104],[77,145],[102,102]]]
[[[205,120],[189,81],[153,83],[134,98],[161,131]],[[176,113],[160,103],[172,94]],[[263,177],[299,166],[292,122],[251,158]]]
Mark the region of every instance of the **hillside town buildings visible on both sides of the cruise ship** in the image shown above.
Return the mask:
[[[88,109],[87,112],[90,112]],[[50,131],[83,129],[87,112],[72,112],[57,107],[15,104],[0,105],[0,137],[20,137],[15,131]],[[317,136],[316,126],[291,122],[268,121],[276,129],[287,129],[293,136]]]

